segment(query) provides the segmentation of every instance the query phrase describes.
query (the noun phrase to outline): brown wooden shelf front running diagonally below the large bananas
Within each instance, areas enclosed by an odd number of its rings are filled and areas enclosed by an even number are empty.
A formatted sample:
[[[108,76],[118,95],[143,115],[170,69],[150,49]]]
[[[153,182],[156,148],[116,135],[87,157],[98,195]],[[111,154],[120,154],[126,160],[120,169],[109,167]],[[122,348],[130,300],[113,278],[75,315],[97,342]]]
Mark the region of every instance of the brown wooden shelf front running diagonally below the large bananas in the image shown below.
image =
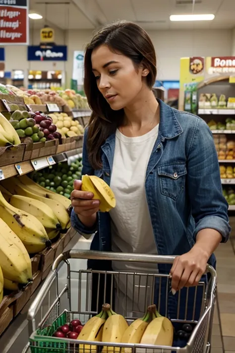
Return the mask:
[[[54,260],[65,249],[75,234],[76,231],[69,228],[67,233],[60,234],[59,239],[50,248],[31,258],[33,281],[20,291],[4,295],[0,303],[0,335],[24,308],[40,283],[48,276]]]

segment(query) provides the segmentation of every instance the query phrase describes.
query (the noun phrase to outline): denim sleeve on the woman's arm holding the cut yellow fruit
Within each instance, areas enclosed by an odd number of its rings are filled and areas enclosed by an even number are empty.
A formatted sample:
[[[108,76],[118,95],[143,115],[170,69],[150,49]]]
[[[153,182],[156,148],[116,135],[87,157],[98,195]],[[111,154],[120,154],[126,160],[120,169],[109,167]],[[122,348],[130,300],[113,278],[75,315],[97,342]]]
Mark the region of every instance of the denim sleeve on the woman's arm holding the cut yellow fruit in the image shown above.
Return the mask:
[[[92,166],[89,163],[89,158],[87,154],[87,147],[86,147],[86,141],[87,141],[87,129],[85,130],[84,133],[84,140],[83,140],[83,149],[82,149],[82,175],[88,174],[88,175],[93,175],[94,170]],[[71,212],[71,225],[73,228],[80,234],[84,235],[87,238],[87,235],[94,234],[97,230],[97,224],[98,221],[95,223],[94,227],[88,228],[86,227],[78,218],[77,214],[72,210]]]

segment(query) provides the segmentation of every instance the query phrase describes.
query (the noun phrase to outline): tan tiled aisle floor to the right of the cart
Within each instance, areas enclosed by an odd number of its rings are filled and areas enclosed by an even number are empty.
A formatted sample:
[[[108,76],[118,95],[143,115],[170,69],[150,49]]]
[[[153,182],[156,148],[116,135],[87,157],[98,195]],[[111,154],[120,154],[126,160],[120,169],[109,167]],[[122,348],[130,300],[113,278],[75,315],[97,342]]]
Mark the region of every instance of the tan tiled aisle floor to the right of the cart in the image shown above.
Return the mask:
[[[216,307],[211,353],[235,353],[235,234],[219,246],[216,257],[219,315]]]

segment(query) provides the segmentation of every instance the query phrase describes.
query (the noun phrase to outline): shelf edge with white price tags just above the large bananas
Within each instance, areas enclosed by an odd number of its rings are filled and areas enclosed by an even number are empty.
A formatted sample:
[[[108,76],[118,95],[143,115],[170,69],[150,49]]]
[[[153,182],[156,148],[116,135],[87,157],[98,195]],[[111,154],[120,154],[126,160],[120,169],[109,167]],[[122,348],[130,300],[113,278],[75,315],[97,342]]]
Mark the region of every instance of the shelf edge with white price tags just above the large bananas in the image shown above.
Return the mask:
[[[59,162],[65,162],[69,157],[80,154],[81,152],[82,148],[76,148],[52,156],[45,156],[16,164],[5,165],[0,167],[0,180],[16,175],[27,174],[33,172],[34,170],[40,170]]]

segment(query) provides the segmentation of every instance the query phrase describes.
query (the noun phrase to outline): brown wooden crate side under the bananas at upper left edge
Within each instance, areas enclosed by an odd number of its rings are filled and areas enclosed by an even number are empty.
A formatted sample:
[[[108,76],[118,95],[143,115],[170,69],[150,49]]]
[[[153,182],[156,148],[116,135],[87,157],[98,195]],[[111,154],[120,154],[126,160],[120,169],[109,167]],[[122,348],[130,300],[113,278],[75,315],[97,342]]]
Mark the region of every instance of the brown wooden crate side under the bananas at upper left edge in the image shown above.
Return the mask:
[[[26,144],[0,147],[0,167],[23,161]]]

